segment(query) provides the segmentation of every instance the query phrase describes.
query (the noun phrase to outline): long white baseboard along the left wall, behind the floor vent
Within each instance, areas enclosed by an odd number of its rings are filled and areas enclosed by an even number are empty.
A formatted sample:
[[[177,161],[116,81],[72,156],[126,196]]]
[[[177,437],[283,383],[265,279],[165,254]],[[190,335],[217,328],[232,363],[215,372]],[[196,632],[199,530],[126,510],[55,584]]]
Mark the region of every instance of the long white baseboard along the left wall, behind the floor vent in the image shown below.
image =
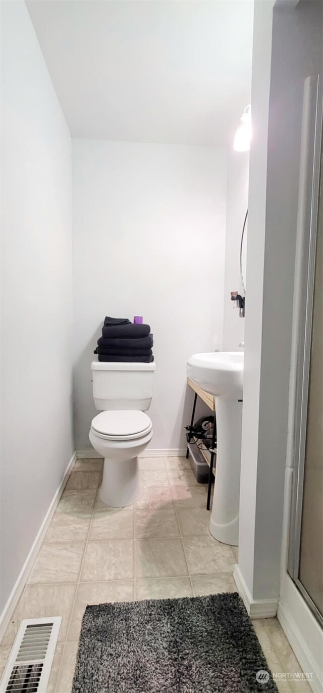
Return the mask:
[[[17,578],[17,581],[15,583],[14,588],[12,589],[12,593],[10,594],[10,597],[8,599],[8,602],[6,603],[6,606],[3,609],[3,612],[1,613],[0,616],[0,641],[3,638],[3,634],[5,633],[8,623],[10,621],[10,618],[12,617],[12,613],[15,611],[15,608],[19,602],[19,599],[21,597],[21,593],[24,590],[24,587],[26,585],[26,582],[28,580],[29,574],[33,568],[33,564],[35,563],[35,559],[37,557],[37,553],[39,551],[39,548],[41,546],[41,542],[44,539],[44,536],[47,532],[48,526],[50,524],[50,520],[53,518],[53,514],[55,513],[55,510],[57,508],[57,505],[59,503],[59,499],[64,491],[64,487],[66,486],[66,482],[68,480],[68,477],[71,473],[73,464],[75,463],[76,460],[76,453],[73,454],[73,457],[71,457],[70,461],[68,462],[68,465],[66,467],[66,471],[64,473],[64,477],[62,478],[62,481],[59,484],[59,487],[54,495],[54,498],[52,502],[50,503],[50,506],[48,508],[48,511],[46,513],[46,516],[44,517],[43,522],[41,523],[41,527],[39,529],[39,532],[35,538],[35,541],[33,543],[33,546],[30,549],[30,552],[28,553],[28,556],[26,558],[26,561],[24,562],[23,567],[21,568],[21,571],[19,573],[19,576]]]

